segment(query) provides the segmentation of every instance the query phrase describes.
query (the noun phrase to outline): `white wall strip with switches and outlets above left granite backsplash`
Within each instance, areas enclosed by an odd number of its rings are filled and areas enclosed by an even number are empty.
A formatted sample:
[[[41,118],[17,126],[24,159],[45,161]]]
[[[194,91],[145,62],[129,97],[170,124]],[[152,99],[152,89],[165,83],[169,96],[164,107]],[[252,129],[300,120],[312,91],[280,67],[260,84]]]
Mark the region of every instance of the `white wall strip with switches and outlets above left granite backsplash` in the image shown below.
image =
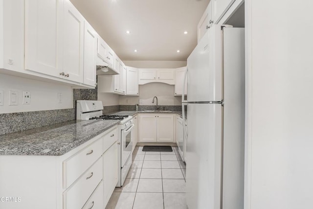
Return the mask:
[[[42,110],[73,108],[73,90],[69,86],[0,74],[0,91],[3,91],[3,106],[0,113],[18,113]],[[9,105],[9,91],[18,91],[18,105]],[[22,104],[22,91],[29,91],[30,104]],[[62,93],[59,103],[58,93]]]

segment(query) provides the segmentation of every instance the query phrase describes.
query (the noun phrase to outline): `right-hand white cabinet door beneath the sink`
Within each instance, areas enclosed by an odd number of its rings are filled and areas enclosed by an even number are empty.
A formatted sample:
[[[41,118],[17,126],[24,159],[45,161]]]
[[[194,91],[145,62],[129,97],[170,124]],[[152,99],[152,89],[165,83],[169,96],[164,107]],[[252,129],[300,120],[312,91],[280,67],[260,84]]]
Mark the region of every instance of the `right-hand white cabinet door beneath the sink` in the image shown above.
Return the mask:
[[[174,142],[174,115],[157,114],[157,142]]]

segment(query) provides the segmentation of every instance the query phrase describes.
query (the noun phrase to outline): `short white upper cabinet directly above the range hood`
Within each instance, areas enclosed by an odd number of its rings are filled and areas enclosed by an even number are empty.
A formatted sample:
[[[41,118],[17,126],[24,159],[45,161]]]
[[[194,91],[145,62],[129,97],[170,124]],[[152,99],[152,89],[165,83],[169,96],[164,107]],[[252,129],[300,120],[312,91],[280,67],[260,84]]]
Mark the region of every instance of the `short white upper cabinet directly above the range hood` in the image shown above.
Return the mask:
[[[101,37],[98,37],[97,52],[98,52],[98,56],[102,62],[106,62],[109,67],[115,68],[114,67],[114,56],[113,56],[114,52],[110,48],[110,46]],[[98,63],[98,65],[101,65],[101,64]]]

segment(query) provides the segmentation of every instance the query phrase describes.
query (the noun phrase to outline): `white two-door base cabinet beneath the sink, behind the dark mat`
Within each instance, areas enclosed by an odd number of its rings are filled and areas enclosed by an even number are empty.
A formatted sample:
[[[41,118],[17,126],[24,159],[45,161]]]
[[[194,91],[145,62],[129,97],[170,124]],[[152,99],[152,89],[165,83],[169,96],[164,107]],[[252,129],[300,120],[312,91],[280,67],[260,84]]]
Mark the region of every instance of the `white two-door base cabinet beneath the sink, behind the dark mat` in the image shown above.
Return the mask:
[[[139,142],[174,142],[175,114],[139,114]]]

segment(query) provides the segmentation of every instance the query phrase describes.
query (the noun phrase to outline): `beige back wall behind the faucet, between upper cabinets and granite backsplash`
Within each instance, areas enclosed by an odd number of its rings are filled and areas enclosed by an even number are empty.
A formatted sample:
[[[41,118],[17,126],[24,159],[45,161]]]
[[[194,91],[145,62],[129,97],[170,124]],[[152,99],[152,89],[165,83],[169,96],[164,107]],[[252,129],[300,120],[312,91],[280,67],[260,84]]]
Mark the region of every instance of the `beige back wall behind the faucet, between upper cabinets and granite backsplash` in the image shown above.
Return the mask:
[[[148,83],[139,85],[139,96],[119,96],[120,105],[156,105],[152,103],[157,96],[159,105],[181,105],[181,96],[174,96],[174,85]]]

